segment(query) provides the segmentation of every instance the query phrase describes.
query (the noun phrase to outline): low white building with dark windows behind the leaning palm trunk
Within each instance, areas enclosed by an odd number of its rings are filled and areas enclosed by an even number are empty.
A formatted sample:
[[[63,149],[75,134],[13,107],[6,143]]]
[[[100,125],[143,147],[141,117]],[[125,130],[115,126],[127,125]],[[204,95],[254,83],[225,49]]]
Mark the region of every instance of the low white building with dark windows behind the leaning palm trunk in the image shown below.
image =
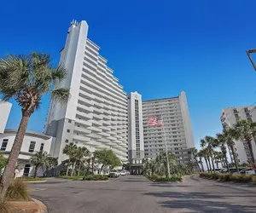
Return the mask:
[[[17,130],[4,130],[3,134],[0,134],[0,152],[8,158],[9,153],[15,142],[15,136]],[[16,176],[33,176],[34,166],[31,162],[32,156],[36,152],[50,152],[51,142],[53,138],[49,135],[40,134],[37,132],[26,131],[20,155],[17,161],[17,174]],[[42,168],[38,170],[38,176],[44,176]]]

